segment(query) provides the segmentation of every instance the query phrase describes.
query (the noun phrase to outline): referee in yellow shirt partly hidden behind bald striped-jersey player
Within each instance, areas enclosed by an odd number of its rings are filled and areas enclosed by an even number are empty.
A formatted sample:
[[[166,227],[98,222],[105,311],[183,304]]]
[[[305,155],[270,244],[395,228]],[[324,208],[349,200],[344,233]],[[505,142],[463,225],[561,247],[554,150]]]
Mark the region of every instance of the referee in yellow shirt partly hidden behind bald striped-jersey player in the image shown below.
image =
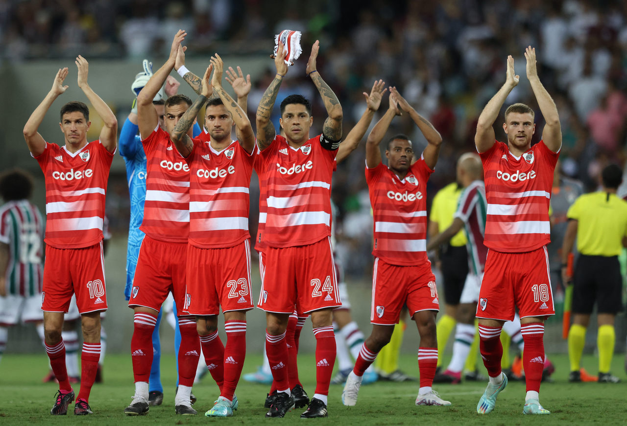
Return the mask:
[[[435,194],[429,214],[429,237],[435,237],[453,223],[453,214],[457,210],[463,187],[457,182],[446,185]],[[457,306],[460,304],[461,290],[468,275],[468,252],[463,229],[455,234],[448,244],[441,246],[439,252],[440,270],[444,281],[445,311],[436,325],[438,335],[438,368],[442,363],[442,354],[446,341],[456,324]]]

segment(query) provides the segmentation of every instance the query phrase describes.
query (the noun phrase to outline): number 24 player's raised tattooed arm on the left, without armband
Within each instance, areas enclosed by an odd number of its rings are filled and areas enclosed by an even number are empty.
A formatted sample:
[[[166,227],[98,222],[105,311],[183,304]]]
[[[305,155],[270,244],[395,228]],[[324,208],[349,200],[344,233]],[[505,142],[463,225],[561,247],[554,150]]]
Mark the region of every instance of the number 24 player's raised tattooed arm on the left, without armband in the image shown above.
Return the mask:
[[[281,86],[283,77],[287,74],[287,65],[285,64],[285,49],[283,43],[279,41],[277,56],[275,57],[275,66],[277,66],[277,75],[270,83],[270,86],[266,89],[261,96],[261,101],[257,107],[256,125],[257,125],[257,146],[260,150],[265,150],[270,146],[270,143],[274,140],[277,132],[274,125],[270,121],[272,114],[272,108],[277,100],[278,89]]]

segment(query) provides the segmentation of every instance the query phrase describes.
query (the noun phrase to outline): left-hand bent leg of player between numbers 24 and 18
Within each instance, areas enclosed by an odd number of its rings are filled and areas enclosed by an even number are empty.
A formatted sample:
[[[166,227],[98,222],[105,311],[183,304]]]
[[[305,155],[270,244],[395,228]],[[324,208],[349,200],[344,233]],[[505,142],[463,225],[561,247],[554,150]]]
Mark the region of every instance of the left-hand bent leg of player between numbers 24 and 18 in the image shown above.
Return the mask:
[[[372,333],[361,346],[355,366],[350,371],[349,377],[346,378],[346,384],[344,385],[344,390],[342,390],[342,403],[344,405],[352,407],[357,403],[357,395],[359,394],[359,387],[361,387],[364,373],[377,358],[379,351],[389,343],[392,333],[394,333],[393,325],[372,325]]]

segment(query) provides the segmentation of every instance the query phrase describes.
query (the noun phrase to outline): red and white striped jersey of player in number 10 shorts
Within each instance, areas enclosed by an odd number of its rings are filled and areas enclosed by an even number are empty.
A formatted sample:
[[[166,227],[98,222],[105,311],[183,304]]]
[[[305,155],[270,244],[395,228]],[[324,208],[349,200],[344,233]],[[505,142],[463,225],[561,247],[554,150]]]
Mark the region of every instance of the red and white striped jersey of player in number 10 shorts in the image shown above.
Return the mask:
[[[44,152],[34,157],[46,180],[46,244],[78,249],[102,241],[114,154],[95,140],[75,153],[46,142]]]

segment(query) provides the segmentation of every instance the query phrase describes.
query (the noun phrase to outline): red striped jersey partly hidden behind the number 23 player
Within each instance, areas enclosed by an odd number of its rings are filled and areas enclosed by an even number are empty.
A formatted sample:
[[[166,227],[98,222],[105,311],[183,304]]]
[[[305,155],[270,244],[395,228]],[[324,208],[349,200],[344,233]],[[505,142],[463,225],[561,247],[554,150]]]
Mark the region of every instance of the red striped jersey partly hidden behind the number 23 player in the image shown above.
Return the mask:
[[[194,144],[199,143],[194,140]],[[141,229],[157,241],[187,242],[189,166],[159,126],[142,140],[146,153],[146,200]]]

